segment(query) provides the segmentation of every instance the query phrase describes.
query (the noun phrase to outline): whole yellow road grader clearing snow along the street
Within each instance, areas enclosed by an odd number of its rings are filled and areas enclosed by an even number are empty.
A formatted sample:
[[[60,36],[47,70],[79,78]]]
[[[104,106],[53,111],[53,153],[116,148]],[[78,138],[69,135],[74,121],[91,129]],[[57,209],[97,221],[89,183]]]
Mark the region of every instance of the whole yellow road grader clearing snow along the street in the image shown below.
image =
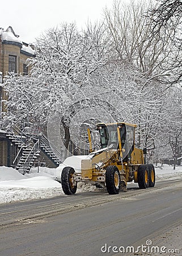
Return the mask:
[[[100,137],[101,149],[92,148],[91,131],[88,131],[90,154],[78,156],[79,167],[71,166],[70,156],[61,173],[62,189],[66,195],[77,191],[77,183],[91,183],[98,188],[105,188],[110,195],[126,192],[127,182],[138,183],[139,188],[155,185],[153,164],[144,163],[143,150],[135,145],[137,125],[131,123],[99,123],[96,125]],[[73,161],[74,162],[74,161]]]

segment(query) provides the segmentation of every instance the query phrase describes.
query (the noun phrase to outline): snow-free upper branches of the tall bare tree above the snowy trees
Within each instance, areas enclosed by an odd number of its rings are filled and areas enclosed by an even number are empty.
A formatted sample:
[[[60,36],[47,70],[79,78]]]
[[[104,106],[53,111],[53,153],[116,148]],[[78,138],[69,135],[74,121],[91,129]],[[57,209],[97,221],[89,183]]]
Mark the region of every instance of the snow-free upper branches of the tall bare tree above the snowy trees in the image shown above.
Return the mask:
[[[129,5],[115,1],[112,10],[105,10],[108,33],[111,35],[115,56],[124,63],[130,63],[149,79],[162,73],[162,65],[167,62],[169,53],[168,40],[165,42],[150,40],[153,27],[145,16],[147,5],[144,1]],[[158,77],[162,80],[162,77]]]

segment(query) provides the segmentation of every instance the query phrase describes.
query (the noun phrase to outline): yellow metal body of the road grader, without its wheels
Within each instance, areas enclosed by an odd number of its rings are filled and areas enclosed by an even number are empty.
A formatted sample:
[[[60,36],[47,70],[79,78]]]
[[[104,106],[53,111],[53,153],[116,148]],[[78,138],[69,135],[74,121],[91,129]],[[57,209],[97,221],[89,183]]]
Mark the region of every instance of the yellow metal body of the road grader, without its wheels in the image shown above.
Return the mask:
[[[106,168],[108,166],[116,166],[120,172],[121,181],[123,181],[125,185],[127,184],[127,181],[134,180],[134,182],[137,182],[138,166],[144,163],[143,150],[136,148],[134,143],[135,129],[137,126],[130,123],[119,122],[107,124],[100,123],[96,127],[98,130],[105,129],[105,133],[107,133],[107,129],[110,129],[113,134],[115,133],[116,146],[113,148],[111,146],[109,147],[108,144],[106,145],[103,143],[103,148],[101,150],[94,151],[91,143],[91,132],[90,129],[87,129],[90,155],[88,159],[82,160],[81,174],[78,175],[79,179],[76,177],[76,180],[103,183],[105,181]],[[130,141],[128,152],[126,152],[125,144],[124,146],[122,145],[121,127],[125,129],[125,137],[127,137],[127,133],[132,133],[132,141]],[[128,136],[128,141],[129,139]]]

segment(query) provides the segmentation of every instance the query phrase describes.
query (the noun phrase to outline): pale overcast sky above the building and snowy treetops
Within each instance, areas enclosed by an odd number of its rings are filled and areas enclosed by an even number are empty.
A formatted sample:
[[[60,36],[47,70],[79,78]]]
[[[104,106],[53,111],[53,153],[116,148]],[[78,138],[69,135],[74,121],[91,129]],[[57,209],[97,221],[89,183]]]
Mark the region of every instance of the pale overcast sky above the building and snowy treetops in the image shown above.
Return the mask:
[[[11,26],[26,43],[35,42],[42,32],[61,22],[84,27],[87,20],[99,20],[113,0],[9,0],[1,2],[0,27]]]

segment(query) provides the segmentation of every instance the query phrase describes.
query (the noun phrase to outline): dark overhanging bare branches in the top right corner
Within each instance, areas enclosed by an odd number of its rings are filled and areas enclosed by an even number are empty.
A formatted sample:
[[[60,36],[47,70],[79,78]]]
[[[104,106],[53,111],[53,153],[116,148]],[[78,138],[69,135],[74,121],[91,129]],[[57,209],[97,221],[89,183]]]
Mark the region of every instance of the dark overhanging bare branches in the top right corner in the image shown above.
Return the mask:
[[[181,0],[156,0],[156,6],[149,9],[146,14],[151,20],[150,40],[158,38],[165,43],[170,40],[170,59],[162,67],[171,73],[171,83],[181,82],[182,73],[182,1]]]

